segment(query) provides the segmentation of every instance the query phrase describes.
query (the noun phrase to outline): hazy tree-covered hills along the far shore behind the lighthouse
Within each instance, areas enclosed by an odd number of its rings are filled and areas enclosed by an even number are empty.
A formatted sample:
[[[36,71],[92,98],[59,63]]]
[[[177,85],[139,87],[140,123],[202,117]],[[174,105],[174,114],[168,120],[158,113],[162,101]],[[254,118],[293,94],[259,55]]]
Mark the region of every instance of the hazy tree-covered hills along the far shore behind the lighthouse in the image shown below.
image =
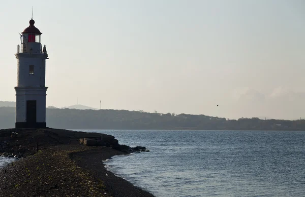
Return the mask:
[[[130,130],[300,130],[305,120],[261,120],[192,114],[148,113],[128,110],[46,109],[47,126],[60,129],[130,129]],[[0,128],[15,127],[15,107],[0,107]]]

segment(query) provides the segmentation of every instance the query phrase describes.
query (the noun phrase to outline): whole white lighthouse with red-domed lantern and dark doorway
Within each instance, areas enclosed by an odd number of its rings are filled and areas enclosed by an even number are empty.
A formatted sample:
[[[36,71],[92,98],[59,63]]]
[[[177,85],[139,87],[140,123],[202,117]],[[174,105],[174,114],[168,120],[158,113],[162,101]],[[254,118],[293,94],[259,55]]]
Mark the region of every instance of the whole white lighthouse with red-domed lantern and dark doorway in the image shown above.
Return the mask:
[[[45,71],[46,47],[40,43],[41,32],[31,19],[21,33],[17,47],[16,128],[46,127]]]

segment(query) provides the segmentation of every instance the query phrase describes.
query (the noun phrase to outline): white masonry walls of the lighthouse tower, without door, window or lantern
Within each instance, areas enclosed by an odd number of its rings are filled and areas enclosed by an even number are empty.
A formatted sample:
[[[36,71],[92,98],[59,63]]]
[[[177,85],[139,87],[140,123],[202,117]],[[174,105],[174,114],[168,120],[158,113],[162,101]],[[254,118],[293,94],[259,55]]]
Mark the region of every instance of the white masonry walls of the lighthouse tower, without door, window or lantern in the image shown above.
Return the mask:
[[[30,44],[30,43],[28,43]],[[40,43],[31,43],[37,47]],[[28,45],[29,46],[29,45]],[[36,51],[37,51],[36,50]],[[26,101],[36,101],[36,122],[46,122],[45,72],[47,54],[17,53],[16,123],[26,122]],[[29,65],[34,65],[34,74],[29,73]]]

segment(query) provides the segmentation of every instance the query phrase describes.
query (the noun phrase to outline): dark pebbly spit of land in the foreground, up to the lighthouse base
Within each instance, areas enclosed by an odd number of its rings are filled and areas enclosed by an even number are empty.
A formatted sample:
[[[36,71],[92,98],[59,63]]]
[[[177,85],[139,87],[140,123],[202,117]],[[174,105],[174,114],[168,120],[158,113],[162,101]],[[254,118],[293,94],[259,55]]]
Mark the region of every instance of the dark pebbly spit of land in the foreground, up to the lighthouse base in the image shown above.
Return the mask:
[[[8,136],[4,133],[9,132],[0,130],[0,142],[4,138],[8,140]],[[53,135],[53,132],[62,136]],[[26,142],[28,139],[32,139],[35,134],[40,133],[39,136],[36,136],[40,139],[37,152],[33,153],[36,144],[34,140],[32,143],[26,144],[25,149],[27,151],[24,152],[24,158],[13,161],[0,169],[2,179],[0,196],[154,197],[153,194],[132,185],[105,168],[103,161],[111,159],[111,156],[130,152],[126,149],[119,150],[114,144],[110,146],[79,144],[77,135],[93,137],[97,133],[72,132],[53,129],[32,130],[27,131],[26,135],[11,139],[10,142]],[[53,140],[54,136],[57,136],[55,142],[58,143],[43,140],[43,138],[50,136],[49,134],[51,134]],[[73,137],[70,134],[76,136]],[[68,135],[70,135],[69,140],[65,139]],[[111,139],[114,139],[114,137]],[[115,140],[113,142],[115,143]],[[13,145],[14,150],[16,147],[15,144]],[[16,150],[18,151],[18,148]],[[16,152],[14,151],[14,153]]]

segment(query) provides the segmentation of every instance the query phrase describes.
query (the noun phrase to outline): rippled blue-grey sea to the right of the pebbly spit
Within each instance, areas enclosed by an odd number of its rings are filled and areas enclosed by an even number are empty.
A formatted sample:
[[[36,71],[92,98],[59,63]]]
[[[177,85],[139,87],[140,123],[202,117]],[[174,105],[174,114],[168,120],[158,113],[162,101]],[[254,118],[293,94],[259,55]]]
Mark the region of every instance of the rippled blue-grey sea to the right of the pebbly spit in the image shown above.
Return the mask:
[[[146,146],[105,164],[157,197],[305,196],[305,132],[83,131]]]

